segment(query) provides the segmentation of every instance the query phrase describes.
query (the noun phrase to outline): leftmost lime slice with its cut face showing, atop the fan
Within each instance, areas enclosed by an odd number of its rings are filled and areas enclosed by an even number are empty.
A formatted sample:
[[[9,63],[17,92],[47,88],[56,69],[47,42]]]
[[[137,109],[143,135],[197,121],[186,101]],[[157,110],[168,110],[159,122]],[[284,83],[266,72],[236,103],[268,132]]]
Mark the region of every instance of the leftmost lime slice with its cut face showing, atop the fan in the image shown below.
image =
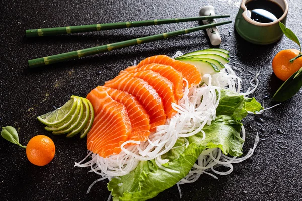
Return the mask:
[[[62,107],[39,116],[38,120],[47,126],[57,125],[73,114],[76,107],[77,99],[71,98],[71,100],[68,100]]]

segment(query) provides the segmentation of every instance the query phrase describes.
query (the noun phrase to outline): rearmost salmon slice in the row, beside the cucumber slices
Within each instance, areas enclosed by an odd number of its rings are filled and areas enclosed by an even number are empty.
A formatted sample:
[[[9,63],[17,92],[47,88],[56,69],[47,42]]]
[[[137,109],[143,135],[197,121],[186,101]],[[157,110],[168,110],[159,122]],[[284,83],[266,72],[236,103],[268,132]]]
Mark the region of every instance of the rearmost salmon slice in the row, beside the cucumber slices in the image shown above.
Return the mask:
[[[196,66],[172,59],[166,55],[148,57],[142,60],[136,67],[140,67],[150,63],[159,63],[172,66],[173,68],[182,73],[183,77],[189,82],[189,87],[198,85],[201,82],[201,74],[196,68]]]

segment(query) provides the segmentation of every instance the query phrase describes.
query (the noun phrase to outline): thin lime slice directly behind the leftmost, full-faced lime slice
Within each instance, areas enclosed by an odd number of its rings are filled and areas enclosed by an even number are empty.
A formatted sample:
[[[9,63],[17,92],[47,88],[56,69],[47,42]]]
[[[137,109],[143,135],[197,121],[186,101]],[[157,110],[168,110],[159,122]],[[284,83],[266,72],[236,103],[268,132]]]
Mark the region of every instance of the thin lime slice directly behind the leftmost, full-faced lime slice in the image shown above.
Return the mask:
[[[54,126],[46,126],[44,127],[45,130],[47,131],[60,131],[60,130],[63,130],[63,129],[66,129],[68,127],[70,127],[70,125],[73,123],[73,121],[75,119],[78,118],[78,115],[80,113],[80,109],[81,109],[81,99],[78,98],[77,96],[71,96],[73,99],[76,99],[77,100],[77,106],[75,108],[75,111],[73,112],[73,114],[71,114],[64,122],[60,123],[60,124],[57,124],[57,125],[54,125]]]

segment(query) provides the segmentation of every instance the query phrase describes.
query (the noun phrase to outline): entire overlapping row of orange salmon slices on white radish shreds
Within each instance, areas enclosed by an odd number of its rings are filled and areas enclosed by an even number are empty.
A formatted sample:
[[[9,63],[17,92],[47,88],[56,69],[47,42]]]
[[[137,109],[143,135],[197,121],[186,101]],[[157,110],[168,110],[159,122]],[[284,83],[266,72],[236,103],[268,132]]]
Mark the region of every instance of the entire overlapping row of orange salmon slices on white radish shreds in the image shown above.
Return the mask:
[[[87,95],[95,110],[88,150],[107,157],[120,153],[125,141],[147,140],[150,131],[176,113],[172,103],[183,97],[183,78],[189,87],[201,82],[194,65],[158,55],[93,89]]]

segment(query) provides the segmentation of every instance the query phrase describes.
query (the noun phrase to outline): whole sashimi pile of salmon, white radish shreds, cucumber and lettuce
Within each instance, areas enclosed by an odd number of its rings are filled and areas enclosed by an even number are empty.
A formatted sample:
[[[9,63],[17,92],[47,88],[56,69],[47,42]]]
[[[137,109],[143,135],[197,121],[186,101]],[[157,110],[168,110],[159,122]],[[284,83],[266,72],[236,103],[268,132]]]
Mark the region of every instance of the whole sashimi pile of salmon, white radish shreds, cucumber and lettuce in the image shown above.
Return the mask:
[[[113,200],[147,200],[202,174],[231,173],[258,141],[237,158],[245,140],[241,121],[263,108],[246,97],[255,88],[240,93],[228,53],[148,57],[94,88],[86,97],[95,114],[89,153],[75,166],[91,167],[101,176],[95,182],[108,179]],[[230,170],[216,171],[221,165]]]

